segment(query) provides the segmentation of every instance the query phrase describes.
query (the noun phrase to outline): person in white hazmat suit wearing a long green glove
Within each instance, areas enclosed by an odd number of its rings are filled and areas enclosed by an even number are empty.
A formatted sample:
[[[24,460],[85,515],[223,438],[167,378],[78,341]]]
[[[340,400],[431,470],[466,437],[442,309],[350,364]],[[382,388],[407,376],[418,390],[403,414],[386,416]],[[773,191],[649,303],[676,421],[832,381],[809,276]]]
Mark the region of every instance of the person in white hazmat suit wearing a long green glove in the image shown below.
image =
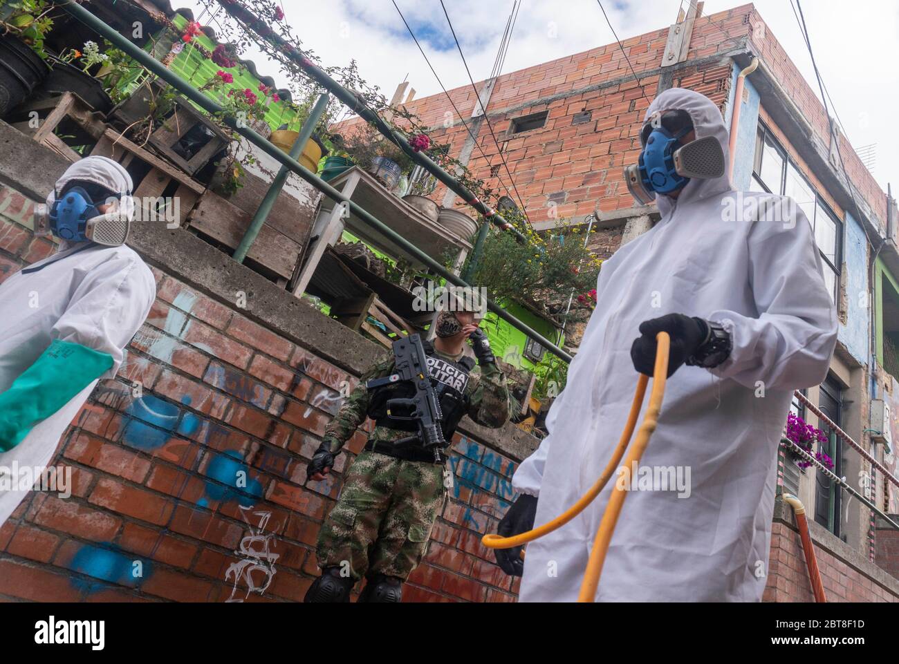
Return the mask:
[[[0,525],[31,490],[22,469],[40,474],[50,463],[156,297],[152,272],[123,244],[132,186],[106,157],[69,166],[36,216],[36,231],[60,238],[58,252],[0,284]]]

